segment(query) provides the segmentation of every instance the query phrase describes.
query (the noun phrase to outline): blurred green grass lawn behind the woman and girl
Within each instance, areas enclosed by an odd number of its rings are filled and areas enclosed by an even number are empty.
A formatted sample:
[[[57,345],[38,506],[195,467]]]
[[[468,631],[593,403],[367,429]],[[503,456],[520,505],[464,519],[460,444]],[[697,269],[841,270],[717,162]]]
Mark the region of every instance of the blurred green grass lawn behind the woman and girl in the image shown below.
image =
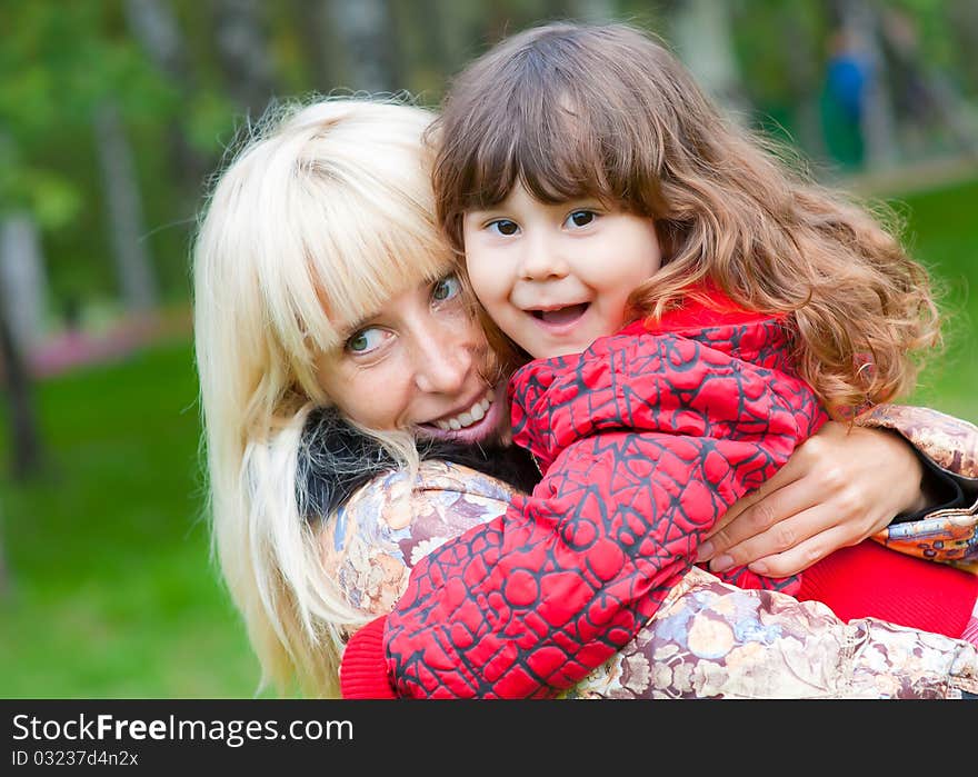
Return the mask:
[[[957,310],[917,400],[978,420],[978,181],[899,198]],[[39,386],[49,468],[11,482],[0,530],[0,697],[250,697],[257,661],[208,555],[189,342]],[[4,419],[0,431],[7,439]]]

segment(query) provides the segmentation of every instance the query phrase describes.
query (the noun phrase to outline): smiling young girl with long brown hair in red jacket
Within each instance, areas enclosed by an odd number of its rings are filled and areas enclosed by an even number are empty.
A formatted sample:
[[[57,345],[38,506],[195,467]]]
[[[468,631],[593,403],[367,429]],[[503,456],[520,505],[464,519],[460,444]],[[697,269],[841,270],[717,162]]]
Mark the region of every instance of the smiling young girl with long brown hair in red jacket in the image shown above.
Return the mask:
[[[829,415],[912,387],[937,315],[896,239],[726,127],[630,28],[517,36],[457,80],[440,132],[439,220],[502,367],[537,359],[510,396],[545,477],[415,568],[347,647],[345,695],[388,678],[402,695],[542,695],[633,636],[726,508]],[[871,544],[804,584],[723,572],[960,636],[978,578],[946,568],[920,596],[932,575]]]

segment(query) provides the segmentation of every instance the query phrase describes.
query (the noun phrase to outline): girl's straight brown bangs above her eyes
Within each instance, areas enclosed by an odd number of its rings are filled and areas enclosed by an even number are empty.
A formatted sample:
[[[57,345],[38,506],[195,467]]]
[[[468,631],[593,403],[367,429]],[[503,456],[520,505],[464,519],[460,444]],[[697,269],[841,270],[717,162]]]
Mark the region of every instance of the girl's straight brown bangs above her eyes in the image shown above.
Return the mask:
[[[446,117],[446,180],[462,185],[461,209],[497,205],[518,181],[548,203],[596,197],[641,209],[661,139],[642,73],[626,63],[610,77],[606,66],[600,51],[542,38],[476,68]]]

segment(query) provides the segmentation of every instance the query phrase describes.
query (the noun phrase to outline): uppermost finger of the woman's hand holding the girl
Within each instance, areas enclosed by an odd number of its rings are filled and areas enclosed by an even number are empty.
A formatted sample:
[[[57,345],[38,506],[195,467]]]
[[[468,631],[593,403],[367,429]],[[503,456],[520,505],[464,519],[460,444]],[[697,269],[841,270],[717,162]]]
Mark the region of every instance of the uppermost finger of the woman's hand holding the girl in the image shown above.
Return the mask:
[[[721,554],[729,552],[735,546],[764,535],[787,518],[816,507],[818,505],[817,497],[817,492],[807,488],[804,480],[795,480],[769,494],[762,494],[757,501],[748,505],[739,515],[729,521],[718,524],[719,528],[712,531],[707,541],[700,545],[697,560],[705,561],[709,558],[717,558]],[[765,552],[740,561],[740,564],[752,561],[761,555],[785,550],[785,548],[767,547],[764,544],[760,547],[766,548]]]

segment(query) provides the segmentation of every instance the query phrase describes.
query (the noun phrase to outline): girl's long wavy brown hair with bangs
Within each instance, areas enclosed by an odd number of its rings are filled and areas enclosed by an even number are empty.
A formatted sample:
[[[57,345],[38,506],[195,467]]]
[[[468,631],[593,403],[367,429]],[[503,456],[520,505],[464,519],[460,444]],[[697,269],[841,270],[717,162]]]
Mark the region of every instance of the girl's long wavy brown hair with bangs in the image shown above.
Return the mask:
[[[626,24],[503,41],[455,80],[430,135],[438,221],[459,257],[465,212],[517,182],[543,202],[597,197],[650,217],[663,267],[631,295],[633,318],[709,283],[788,313],[798,371],[836,417],[906,394],[940,342],[930,279],[884,223],[726,121],[663,46]],[[480,320],[507,367],[525,360]]]

